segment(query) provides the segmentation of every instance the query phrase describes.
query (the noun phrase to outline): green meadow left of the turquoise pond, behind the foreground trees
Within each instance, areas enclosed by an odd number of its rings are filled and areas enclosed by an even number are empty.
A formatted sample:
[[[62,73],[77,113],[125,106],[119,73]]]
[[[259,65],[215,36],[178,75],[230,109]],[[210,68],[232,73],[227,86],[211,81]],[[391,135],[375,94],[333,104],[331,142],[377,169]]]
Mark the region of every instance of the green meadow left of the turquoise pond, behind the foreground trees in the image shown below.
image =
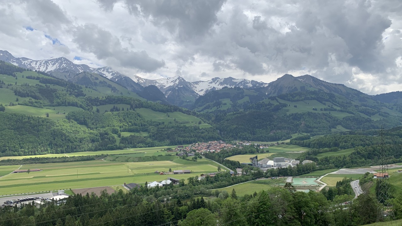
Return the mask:
[[[217,189],[219,191],[227,191],[229,194],[234,189],[236,191],[236,195],[250,195],[254,192],[260,192],[262,190],[268,190],[276,184],[285,183],[285,179],[267,179],[267,180],[259,180],[259,181],[249,181],[247,183],[242,183],[239,185],[234,185],[232,187],[226,187]]]

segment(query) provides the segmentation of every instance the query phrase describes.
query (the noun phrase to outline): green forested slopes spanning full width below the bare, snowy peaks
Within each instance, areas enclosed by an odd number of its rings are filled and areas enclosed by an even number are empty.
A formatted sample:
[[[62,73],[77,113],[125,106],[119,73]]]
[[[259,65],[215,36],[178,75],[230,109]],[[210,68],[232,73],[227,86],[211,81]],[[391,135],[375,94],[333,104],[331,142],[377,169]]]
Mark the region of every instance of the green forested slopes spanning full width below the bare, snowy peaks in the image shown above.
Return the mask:
[[[326,83],[315,84],[325,91],[294,90],[277,97],[260,89],[222,88],[199,97],[192,111],[163,104],[166,98],[156,86],[138,95],[96,73],[69,74],[66,81],[0,62],[0,74],[3,156],[210,140],[277,142],[296,133],[392,128],[400,125],[402,115],[396,103]]]

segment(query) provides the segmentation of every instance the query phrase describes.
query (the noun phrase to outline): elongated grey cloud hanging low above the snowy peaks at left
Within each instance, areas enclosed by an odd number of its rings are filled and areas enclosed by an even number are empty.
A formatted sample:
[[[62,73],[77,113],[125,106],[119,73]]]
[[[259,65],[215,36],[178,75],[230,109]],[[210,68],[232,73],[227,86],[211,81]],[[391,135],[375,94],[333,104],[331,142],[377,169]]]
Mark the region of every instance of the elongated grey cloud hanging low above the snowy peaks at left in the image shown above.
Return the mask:
[[[165,65],[163,60],[151,58],[146,51],[123,48],[117,37],[96,25],[77,27],[74,31],[74,42],[82,51],[94,53],[99,60],[117,61],[117,64],[126,68],[152,72]]]

